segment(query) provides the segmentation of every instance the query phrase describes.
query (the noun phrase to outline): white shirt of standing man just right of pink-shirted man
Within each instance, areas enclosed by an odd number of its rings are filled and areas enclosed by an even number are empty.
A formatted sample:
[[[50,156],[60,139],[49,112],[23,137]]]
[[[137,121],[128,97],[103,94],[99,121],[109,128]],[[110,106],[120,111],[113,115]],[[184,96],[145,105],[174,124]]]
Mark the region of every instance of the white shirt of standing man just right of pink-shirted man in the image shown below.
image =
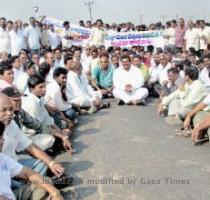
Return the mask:
[[[200,41],[200,31],[197,28],[187,29],[184,39],[186,40],[186,50],[189,50],[190,47],[195,48],[196,51],[199,50],[199,41]]]

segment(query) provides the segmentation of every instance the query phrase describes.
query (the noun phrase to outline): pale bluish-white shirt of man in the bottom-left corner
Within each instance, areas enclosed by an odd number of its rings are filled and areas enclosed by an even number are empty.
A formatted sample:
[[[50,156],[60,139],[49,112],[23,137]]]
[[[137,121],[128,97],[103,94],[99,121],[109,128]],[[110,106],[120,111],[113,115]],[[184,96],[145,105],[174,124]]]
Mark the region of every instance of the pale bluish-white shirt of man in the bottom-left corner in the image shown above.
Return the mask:
[[[0,153],[0,161],[0,195],[9,200],[15,200],[11,190],[11,178],[19,175],[23,166],[2,153]]]

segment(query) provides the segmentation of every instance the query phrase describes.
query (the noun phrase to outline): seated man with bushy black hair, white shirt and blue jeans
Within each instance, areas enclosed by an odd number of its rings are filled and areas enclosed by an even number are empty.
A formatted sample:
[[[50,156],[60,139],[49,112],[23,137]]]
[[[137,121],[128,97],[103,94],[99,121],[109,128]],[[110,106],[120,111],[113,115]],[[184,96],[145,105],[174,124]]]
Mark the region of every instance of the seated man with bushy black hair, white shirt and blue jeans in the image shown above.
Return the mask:
[[[68,71],[65,68],[58,67],[53,72],[54,80],[46,87],[45,100],[64,114],[71,123],[78,123],[78,115],[72,108],[70,100],[66,96],[66,81]]]

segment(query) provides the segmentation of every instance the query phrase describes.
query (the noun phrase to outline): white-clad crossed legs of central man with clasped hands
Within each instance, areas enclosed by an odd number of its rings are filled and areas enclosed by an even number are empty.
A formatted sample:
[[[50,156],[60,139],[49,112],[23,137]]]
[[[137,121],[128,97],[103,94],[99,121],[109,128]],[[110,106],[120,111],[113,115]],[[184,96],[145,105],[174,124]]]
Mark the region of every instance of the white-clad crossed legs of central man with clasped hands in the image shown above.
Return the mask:
[[[113,95],[117,99],[121,99],[125,103],[128,103],[130,101],[137,101],[137,100],[143,100],[148,96],[149,92],[146,88],[139,88],[133,92],[126,92],[124,90],[119,90],[115,88],[113,90]]]

